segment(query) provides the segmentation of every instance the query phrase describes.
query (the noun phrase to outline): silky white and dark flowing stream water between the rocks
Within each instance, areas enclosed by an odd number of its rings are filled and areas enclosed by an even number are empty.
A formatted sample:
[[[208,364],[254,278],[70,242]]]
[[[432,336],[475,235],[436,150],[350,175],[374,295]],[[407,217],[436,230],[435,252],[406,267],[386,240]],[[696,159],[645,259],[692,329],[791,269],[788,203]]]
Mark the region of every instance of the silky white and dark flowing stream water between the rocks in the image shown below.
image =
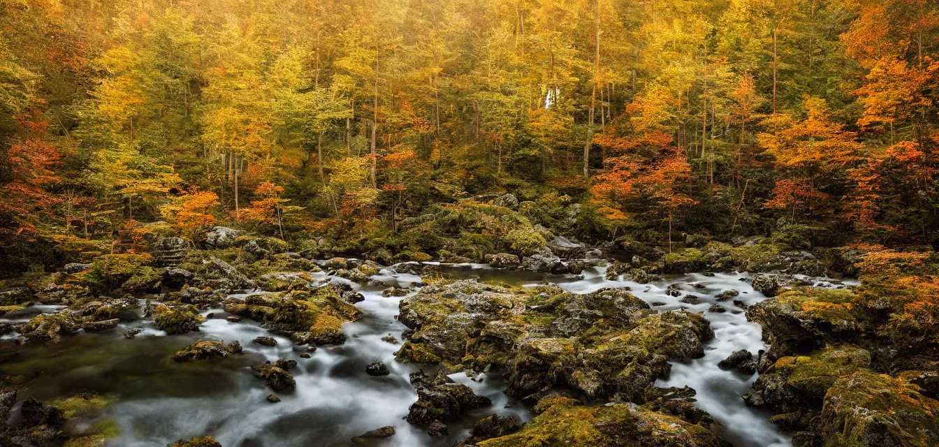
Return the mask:
[[[743,309],[731,301],[722,302],[725,313],[710,312],[715,296],[736,289],[734,300],[747,305],[765,297],[747,283],[746,274],[690,274],[648,285],[604,279],[605,268],[584,271],[580,277],[554,276],[525,271],[493,270],[481,265],[443,266],[454,277],[479,278],[512,285],[547,281],[574,293],[588,293],[603,287],[629,286],[640,299],[654,309],[668,311],[688,308],[703,313],[711,322],[716,338],[705,346],[703,358],[673,363],[670,378],[656,385],[689,386],[697,390],[698,406],[723,424],[725,436],[736,447],[783,447],[789,437],[767,421],[768,414],[744,405],[741,395],[756,378],[717,368],[717,362],[732,351],[747,349],[754,354],[765,348],[759,325],[747,322]],[[316,273],[316,280],[326,279]],[[332,281],[346,280],[332,278]],[[260,335],[272,336],[256,323],[229,322],[221,309],[211,309],[211,317],[200,332],[166,336],[150,327],[148,321],[122,323],[116,331],[64,337],[59,343],[6,347],[0,351],[0,374],[23,376],[26,386],[21,397],[35,396],[50,400],[77,393],[95,392],[113,398],[104,416],[116,425],[119,435],[109,445],[163,447],[177,439],[213,435],[225,447],[292,446],[451,446],[469,436],[472,424],[489,414],[511,415],[525,421],[531,418],[526,408],[501,393],[504,382],[498,374],[470,379],[454,374],[454,380],[492,399],[490,408],[480,408],[462,420],[449,424],[450,435],[431,439],[423,430],[404,421],[408,407],[417,393],[408,382],[408,374],[417,365],[394,362],[399,346],[381,338],[393,334],[401,338],[406,328],[395,319],[400,297],[382,297],[390,285],[420,283],[421,278],[382,270],[372,278],[375,285],[355,285],[365,300],[356,304],[362,319],[344,326],[347,342],[339,347],[319,347],[309,359],[299,357],[303,350],[292,347],[285,337],[276,347],[252,343]],[[698,304],[685,304],[666,293],[670,284],[680,284],[683,292],[700,297]],[[830,284],[829,284],[830,286]],[[56,312],[61,307],[34,306],[27,314]],[[28,315],[0,318],[22,321]],[[134,339],[124,331],[142,328]],[[178,363],[170,356],[198,339],[239,341],[245,355],[229,356],[221,361]],[[250,365],[293,359],[298,367],[291,370],[297,381],[293,393],[278,393],[282,402],[266,401],[270,393],[263,380],[254,378]],[[370,377],[365,365],[384,362],[391,374]],[[357,435],[393,425],[397,433],[386,440],[359,443]]]

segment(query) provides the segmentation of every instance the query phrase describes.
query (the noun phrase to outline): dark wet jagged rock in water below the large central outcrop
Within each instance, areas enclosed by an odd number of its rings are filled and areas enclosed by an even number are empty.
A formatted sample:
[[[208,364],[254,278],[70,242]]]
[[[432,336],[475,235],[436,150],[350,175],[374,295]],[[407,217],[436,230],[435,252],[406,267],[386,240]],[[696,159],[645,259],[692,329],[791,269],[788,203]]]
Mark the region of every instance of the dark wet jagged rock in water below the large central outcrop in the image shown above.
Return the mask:
[[[428,377],[419,371],[411,373],[410,382],[418,395],[417,402],[408,409],[411,424],[451,421],[470,409],[492,405],[487,397],[476,395],[468,386],[443,374]]]

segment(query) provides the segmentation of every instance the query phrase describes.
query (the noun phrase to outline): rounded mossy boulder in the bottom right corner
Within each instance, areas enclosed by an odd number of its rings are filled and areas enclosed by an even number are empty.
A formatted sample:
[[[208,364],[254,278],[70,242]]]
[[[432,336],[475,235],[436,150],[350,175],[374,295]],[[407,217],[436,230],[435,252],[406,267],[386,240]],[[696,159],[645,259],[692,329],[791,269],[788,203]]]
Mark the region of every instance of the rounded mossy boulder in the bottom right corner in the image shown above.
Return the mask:
[[[824,397],[824,447],[939,445],[939,401],[903,378],[867,369],[842,376]]]

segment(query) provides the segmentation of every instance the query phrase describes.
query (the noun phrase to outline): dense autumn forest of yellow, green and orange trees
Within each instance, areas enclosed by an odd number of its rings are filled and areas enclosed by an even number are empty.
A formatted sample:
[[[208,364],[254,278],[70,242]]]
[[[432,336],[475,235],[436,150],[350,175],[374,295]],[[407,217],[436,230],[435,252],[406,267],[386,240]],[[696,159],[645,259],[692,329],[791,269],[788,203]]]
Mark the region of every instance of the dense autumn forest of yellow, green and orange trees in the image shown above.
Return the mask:
[[[936,244],[937,59],[933,0],[0,0],[0,247],[505,192],[582,238]]]

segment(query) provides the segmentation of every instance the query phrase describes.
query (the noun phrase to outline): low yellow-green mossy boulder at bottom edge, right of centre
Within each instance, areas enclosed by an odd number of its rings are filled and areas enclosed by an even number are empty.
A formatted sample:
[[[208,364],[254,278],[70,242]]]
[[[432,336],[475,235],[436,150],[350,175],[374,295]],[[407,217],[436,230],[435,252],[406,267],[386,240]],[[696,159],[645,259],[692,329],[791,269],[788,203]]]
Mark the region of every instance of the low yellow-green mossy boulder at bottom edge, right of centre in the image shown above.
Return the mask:
[[[552,398],[517,433],[480,441],[479,447],[725,447],[710,428],[631,404],[584,406]]]

